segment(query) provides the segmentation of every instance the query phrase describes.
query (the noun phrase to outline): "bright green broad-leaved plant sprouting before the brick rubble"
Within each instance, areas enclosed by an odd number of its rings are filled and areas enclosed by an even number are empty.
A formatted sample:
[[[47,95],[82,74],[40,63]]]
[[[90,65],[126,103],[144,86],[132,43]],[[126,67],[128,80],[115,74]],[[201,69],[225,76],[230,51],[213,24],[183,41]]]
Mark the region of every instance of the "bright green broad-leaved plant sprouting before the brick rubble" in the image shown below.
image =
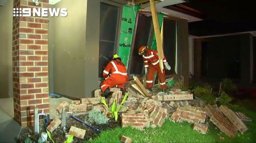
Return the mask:
[[[112,103],[111,109],[110,109],[110,106],[108,106],[108,104],[106,104],[104,98],[101,97],[101,102],[106,106],[108,112],[111,112],[112,116],[115,117],[115,121],[117,121],[117,119],[118,119],[118,112],[122,109],[122,105],[126,101],[128,94],[129,94],[129,92],[127,92],[124,95],[123,100],[120,104],[118,104],[117,101],[115,100]]]

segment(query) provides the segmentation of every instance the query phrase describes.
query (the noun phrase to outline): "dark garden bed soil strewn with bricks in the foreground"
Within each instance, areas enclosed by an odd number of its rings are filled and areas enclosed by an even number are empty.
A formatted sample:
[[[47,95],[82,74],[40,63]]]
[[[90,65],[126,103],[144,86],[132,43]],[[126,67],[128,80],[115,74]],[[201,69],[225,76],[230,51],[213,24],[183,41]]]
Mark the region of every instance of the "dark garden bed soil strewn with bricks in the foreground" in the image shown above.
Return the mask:
[[[84,121],[84,119],[88,119],[88,115],[79,115],[79,116],[75,116],[75,117],[80,119],[81,121]],[[114,120],[114,118],[111,118],[107,124],[97,125],[95,123],[92,123],[91,125],[93,127],[97,128],[97,129],[99,129],[100,131],[111,130],[111,129],[114,129],[116,127],[121,127],[121,118],[119,116],[117,122]],[[88,127],[88,126],[86,126],[86,125],[84,125],[84,124],[82,124],[82,123],[80,123],[80,122],[78,122],[78,121],[76,121],[72,118],[67,118],[67,120],[66,120],[66,131],[63,131],[59,126],[57,129],[55,129],[51,133],[52,138],[54,139],[54,141],[55,142],[64,142],[67,139],[66,134],[68,134],[71,126],[86,130],[86,134],[84,135],[83,139],[74,137],[73,142],[84,142],[84,141],[87,141],[89,139],[93,139],[93,138],[95,138],[99,135],[99,133],[97,133],[95,130],[91,129],[90,127]],[[32,134],[33,134],[32,130],[30,130],[29,128],[23,128],[22,131],[19,134],[18,142],[25,142],[25,140],[28,136],[30,136],[29,138],[31,140],[37,142],[37,139],[39,138],[39,136],[38,135],[32,135]],[[49,140],[49,137],[48,137],[48,140]]]

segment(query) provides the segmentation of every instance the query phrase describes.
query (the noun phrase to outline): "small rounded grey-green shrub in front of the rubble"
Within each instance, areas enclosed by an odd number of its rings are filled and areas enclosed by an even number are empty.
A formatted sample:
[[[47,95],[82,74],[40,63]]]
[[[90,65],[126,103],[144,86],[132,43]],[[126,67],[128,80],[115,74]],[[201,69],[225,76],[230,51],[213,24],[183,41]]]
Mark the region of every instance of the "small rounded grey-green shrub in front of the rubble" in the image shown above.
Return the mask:
[[[106,124],[110,120],[103,115],[103,112],[101,112],[99,108],[91,110],[88,117],[90,122],[94,122],[96,124]]]

